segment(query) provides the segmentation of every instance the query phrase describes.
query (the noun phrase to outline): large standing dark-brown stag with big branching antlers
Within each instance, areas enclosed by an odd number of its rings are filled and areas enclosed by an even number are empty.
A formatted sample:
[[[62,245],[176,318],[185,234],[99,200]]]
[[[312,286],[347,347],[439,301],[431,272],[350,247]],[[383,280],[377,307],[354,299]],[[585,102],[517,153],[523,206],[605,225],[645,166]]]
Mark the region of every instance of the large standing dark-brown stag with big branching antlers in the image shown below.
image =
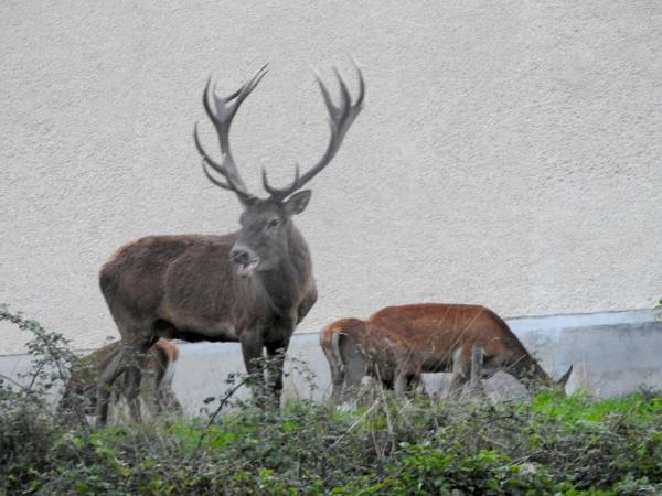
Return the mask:
[[[282,360],[290,336],[317,300],[310,252],[292,216],[300,214],[311,192],[301,187],[333,159],[361,111],[364,83],[359,75],[359,96],[350,91],[335,71],[340,104],[317,77],[329,111],[331,137],[322,158],[284,188],[273,187],[263,170],[269,196],[248,193],[229,148],[229,127],[242,103],[267,72],[255,76],[226,98],[210,89],[202,104],[216,129],[221,161],[202,147],[197,126],[193,133],[203,170],[215,185],[234,192],[244,208],[241,228],[226,236],[151,236],[120,248],[102,268],[100,285],[119,328],[122,353],[99,377],[98,422],[107,416],[108,386],[126,370],[131,414],[140,419],[136,401],[142,355],[159,337],[184,341],[239,342],[248,373],[277,399],[282,389]],[[214,108],[210,103],[214,99]],[[214,177],[210,168],[223,179]],[[259,358],[266,348],[271,358],[265,374]],[[257,388],[256,388],[257,389]]]

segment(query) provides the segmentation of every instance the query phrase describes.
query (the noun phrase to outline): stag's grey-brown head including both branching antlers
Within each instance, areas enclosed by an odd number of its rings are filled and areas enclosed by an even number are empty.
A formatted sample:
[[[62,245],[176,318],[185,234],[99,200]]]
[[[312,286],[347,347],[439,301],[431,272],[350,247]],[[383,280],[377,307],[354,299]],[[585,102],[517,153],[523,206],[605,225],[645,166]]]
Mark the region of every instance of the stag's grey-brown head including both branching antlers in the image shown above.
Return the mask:
[[[213,159],[202,147],[197,134],[197,125],[193,138],[202,157],[202,165],[207,179],[216,186],[234,192],[244,207],[244,212],[239,217],[241,228],[237,239],[229,255],[231,260],[238,266],[239,276],[248,277],[255,271],[271,270],[278,266],[286,254],[287,236],[292,226],[291,217],[303,212],[310,200],[311,192],[310,190],[302,190],[303,185],[331,162],[363,106],[365,94],[363,76],[357,66],[356,72],[359,74],[359,96],[355,101],[352,101],[346,84],[338,69],[334,69],[340,87],[340,104],[338,106],[333,104],[329,89],[316,74],[329,111],[331,128],[329,144],[318,163],[306,173],[300,174],[299,165],[297,165],[295,180],[285,187],[271,186],[267,179],[267,172],[263,169],[263,185],[268,193],[266,198],[249,193],[242,180],[229,148],[229,127],[242,103],[267,74],[267,65],[264,65],[250,80],[225,98],[220,97],[215,89],[211,88],[211,79],[207,82],[202,96],[202,105],[216,128],[221,147],[221,161]],[[214,174],[218,174],[221,177]]]

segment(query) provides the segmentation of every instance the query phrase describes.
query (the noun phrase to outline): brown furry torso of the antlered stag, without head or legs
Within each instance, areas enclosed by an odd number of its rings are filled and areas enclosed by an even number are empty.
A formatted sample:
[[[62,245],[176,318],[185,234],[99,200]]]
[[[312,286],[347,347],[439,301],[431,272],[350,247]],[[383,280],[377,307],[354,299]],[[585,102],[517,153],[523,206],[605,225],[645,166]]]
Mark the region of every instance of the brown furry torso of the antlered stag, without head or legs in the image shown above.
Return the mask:
[[[150,339],[241,342],[257,330],[265,343],[289,339],[317,296],[308,248],[290,229],[287,267],[252,278],[228,263],[235,234],[150,236],[120,248],[100,272],[120,333],[136,325]]]

